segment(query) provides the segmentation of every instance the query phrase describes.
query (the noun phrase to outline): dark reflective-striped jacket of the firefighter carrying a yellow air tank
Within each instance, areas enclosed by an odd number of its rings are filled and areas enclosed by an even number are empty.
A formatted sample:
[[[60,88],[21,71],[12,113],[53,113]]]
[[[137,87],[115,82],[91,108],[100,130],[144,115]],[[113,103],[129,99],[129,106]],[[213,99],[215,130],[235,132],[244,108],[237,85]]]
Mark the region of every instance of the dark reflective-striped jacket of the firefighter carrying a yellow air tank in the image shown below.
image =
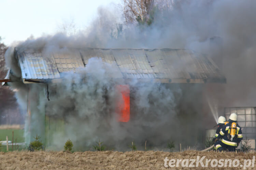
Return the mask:
[[[240,143],[240,141],[243,139],[242,135],[242,130],[240,126],[237,123],[237,129],[236,129],[236,135],[235,137],[231,140],[228,136],[230,133],[230,126],[232,124],[232,121],[227,123],[226,125],[223,126],[221,131],[219,131],[218,139],[222,138],[221,141],[225,143],[226,145],[237,147],[237,144]]]

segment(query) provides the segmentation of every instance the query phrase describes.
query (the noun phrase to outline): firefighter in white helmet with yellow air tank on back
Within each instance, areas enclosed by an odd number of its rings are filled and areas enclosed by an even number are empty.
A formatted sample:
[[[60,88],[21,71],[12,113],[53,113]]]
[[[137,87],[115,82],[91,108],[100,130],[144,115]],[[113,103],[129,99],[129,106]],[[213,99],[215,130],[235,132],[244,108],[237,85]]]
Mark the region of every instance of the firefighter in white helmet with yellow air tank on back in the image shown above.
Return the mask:
[[[217,139],[219,139],[215,145],[217,151],[236,151],[237,146],[243,139],[243,135],[242,130],[237,123],[237,115],[235,113],[232,113],[229,116],[228,123],[223,126],[221,131],[219,131]]]

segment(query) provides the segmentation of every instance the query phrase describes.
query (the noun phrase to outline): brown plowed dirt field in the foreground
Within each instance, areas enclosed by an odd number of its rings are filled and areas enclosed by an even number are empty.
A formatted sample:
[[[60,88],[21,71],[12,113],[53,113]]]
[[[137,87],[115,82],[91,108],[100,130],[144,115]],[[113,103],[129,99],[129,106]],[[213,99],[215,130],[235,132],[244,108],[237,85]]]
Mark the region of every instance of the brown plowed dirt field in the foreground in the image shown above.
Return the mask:
[[[199,152],[199,151],[185,151],[185,152],[160,152],[160,151],[130,151],[130,152],[115,152],[115,151],[103,151],[103,152],[0,152],[0,169],[166,169],[169,167],[169,161],[167,161],[165,167],[164,159],[167,157],[175,159],[175,165],[173,168],[177,169],[205,169],[202,165],[196,167],[196,162],[186,166],[184,159],[197,159],[200,156],[205,158],[202,160],[203,166],[206,166],[206,159],[238,159],[240,164],[238,167],[211,167],[211,162],[208,163],[208,168],[214,169],[243,169],[244,159],[251,159],[253,163],[253,156],[256,153],[216,153],[216,152]],[[179,166],[176,167],[177,159],[182,159]],[[183,161],[183,166],[182,166]],[[193,161],[193,160],[192,160]],[[189,160],[188,164],[192,161]],[[216,162],[213,162],[215,166]],[[217,162],[218,163],[218,162]],[[224,163],[224,161],[223,161]],[[250,161],[246,162],[248,166]],[[237,164],[237,163],[236,163]],[[235,165],[236,165],[235,164]],[[255,164],[255,162],[254,162]],[[189,166],[189,165],[188,165]],[[251,164],[249,169],[255,169]],[[172,168],[172,169],[173,169]],[[246,167],[246,169],[248,169]]]

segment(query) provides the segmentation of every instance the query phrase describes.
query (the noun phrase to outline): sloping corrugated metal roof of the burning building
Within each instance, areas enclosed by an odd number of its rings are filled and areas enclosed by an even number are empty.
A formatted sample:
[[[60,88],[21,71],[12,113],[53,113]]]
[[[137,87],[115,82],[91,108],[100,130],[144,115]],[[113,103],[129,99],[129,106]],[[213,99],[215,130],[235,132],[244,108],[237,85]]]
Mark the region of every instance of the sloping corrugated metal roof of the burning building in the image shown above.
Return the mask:
[[[22,78],[56,79],[61,72],[77,72],[91,57],[102,58],[119,70],[113,78],[150,80],[162,83],[225,83],[226,78],[210,57],[188,49],[69,49],[48,55],[16,52]]]

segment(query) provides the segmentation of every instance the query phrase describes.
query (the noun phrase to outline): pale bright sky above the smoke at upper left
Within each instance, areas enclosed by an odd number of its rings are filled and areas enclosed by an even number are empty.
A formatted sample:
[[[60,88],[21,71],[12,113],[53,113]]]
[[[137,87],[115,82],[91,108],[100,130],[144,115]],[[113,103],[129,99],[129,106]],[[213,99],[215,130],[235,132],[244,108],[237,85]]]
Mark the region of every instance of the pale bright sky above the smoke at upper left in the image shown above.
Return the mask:
[[[120,0],[0,0],[1,42],[9,46],[31,35],[54,34],[72,20],[83,29],[97,16],[97,8]]]

